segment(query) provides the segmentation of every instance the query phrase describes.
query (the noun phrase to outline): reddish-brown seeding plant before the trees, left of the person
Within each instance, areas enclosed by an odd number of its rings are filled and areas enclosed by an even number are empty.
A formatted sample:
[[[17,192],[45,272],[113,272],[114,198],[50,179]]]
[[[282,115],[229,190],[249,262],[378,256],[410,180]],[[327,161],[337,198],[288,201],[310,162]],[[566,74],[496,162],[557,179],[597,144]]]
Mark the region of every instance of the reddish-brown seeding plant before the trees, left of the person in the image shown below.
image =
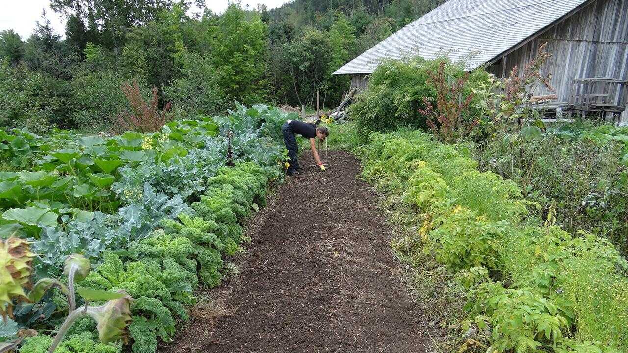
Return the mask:
[[[136,80],[133,80],[133,85],[125,82],[120,88],[129,101],[130,109],[118,114],[114,124],[115,132],[137,131],[138,133],[154,133],[159,131],[168,119],[170,102],[163,109],[159,108],[157,87],[153,87],[153,96],[148,103],[144,101]]]

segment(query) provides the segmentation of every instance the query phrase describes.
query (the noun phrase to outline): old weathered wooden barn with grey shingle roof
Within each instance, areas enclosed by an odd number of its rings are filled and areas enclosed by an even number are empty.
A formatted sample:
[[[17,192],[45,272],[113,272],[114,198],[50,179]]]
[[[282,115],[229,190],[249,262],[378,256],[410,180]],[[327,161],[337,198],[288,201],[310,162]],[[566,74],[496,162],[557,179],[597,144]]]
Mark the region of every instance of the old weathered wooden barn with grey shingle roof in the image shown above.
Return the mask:
[[[449,0],[334,73],[352,75],[352,87],[363,88],[383,59],[447,55],[467,70],[504,77],[522,70],[543,43],[551,54],[543,70],[558,95],[552,108],[608,111],[628,121],[628,0]]]

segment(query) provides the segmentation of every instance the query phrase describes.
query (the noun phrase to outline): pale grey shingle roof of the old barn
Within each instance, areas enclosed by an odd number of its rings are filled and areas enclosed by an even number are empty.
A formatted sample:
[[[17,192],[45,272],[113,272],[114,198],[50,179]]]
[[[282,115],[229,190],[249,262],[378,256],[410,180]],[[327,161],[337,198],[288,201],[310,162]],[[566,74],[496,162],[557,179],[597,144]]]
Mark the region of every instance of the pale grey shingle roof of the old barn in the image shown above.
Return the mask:
[[[372,73],[382,59],[443,54],[464,62],[467,70],[483,65],[534,37],[590,0],[449,0],[409,23],[359,57],[340,73]]]

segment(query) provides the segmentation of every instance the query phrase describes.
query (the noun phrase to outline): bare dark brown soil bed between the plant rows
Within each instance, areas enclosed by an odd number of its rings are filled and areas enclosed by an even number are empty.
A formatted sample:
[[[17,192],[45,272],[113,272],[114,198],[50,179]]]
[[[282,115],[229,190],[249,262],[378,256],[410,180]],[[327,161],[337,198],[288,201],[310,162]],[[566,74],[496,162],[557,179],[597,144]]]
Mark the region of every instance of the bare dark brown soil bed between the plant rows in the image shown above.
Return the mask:
[[[220,305],[193,313],[161,352],[426,352],[391,229],[355,178],[359,162],[335,151],[320,173],[310,153],[301,159],[301,175],[258,215],[239,274],[210,291],[240,307],[217,323]]]

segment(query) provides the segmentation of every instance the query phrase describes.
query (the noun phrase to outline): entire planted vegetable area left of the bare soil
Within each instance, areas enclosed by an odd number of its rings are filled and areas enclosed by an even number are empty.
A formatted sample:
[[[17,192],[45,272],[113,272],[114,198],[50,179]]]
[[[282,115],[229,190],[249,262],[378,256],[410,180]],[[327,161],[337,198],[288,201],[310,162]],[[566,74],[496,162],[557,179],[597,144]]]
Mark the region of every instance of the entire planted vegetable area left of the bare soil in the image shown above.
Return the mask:
[[[30,242],[32,282],[64,281],[65,259],[84,255],[95,266],[80,286],[133,296],[129,334],[134,350],[152,352],[158,338],[172,337],[176,318],[187,320],[185,305],[193,303],[193,290],[220,283],[222,256],[239,250],[240,221],[265,205],[266,185],[280,175],[277,161],[284,149],[276,139],[287,118],[276,108],[237,104],[229,116],[173,121],[154,134],[3,135],[3,160],[13,169],[0,172],[6,179],[1,184],[26,191],[0,197],[3,236]],[[16,142],[21,140],[29,142]],[[16,153],[24,153],[26,163],[13,163]],[[100,160],[117,162],[104,170],[107,165]],[[227,168],[227,163],[236,166]],[[113,178],[100,197],[107,193],[116,209],[73,204],[77,199],[67,190],[77,183],[94,184],[90,175],[97,174],[96,168]],[[51,191],[59,180],[69,180],[69,187]],[[11,296],[6,301],[14,308],[13,320],[0,331],[0,342],[14,341],[18,329],[59,329],[72,307],[58,291],[33,302]],[[78,319],[65,337],[75,346],[83,342],[85,350],[99,350],[85,334],[93,334],[94,325],[90,318]],[[35,337],[21,349],[38,351],[50,343],[48,337]],[[66,345],[62,342],[58,350],[81,351]]]

